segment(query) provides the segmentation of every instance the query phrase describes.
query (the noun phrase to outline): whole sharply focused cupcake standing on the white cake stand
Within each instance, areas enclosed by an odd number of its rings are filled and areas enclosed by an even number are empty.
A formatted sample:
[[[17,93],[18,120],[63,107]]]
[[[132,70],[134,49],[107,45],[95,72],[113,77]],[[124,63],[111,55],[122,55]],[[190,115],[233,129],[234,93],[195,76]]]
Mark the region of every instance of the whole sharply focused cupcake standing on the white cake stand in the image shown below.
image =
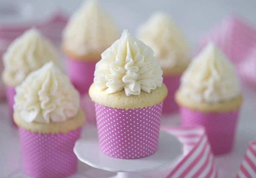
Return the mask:
[[[101,151],[121,159],[153,154],[168,92],[153,50],[124,30],[101,54],[94,76],[89,96]]]

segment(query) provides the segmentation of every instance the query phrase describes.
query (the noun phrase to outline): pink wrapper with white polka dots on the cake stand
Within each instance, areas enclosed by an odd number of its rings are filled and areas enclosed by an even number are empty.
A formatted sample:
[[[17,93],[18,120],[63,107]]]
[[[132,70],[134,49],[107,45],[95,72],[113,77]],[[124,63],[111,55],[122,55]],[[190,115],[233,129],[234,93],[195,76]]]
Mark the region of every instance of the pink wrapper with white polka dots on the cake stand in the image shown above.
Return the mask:
[[[156,152],[162,103],[141,109],[95,104],[101,151],[110,157],[136,159]]]

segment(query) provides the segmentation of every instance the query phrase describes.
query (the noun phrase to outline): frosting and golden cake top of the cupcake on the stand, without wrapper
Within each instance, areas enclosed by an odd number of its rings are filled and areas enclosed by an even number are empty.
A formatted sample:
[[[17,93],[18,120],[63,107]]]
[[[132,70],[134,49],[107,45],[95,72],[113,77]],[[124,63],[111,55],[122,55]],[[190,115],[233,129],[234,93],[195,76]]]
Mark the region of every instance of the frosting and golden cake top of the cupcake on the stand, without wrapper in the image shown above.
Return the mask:
[[[162,85],[161,66],[153,50],[131,36],[127,30],[101,54],[94,76],[94,84],[89,90],[90,97],[94,102],[106,106],[128,109],[133,103],[134,107],[142,107],[143,102],[148,105],[145,98],[154,98],[152,93],[160,96],[155,97],[153,102],[148,101],[150,105],[162,102],[167,95],[166,86]],[[119,101],[123,103],[115,105],[111,103],[113,100],[115,104]]]

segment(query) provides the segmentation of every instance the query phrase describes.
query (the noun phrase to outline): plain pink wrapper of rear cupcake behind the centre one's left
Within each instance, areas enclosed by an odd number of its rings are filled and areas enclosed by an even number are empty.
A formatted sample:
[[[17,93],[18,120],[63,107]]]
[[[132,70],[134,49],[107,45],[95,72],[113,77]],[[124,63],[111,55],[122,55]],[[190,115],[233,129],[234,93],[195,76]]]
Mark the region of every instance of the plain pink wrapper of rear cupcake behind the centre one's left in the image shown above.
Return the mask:
[[[93,83],[96,62],[84,62],[76,59],[67,59],[69,78],[81,95],[88,92]]]

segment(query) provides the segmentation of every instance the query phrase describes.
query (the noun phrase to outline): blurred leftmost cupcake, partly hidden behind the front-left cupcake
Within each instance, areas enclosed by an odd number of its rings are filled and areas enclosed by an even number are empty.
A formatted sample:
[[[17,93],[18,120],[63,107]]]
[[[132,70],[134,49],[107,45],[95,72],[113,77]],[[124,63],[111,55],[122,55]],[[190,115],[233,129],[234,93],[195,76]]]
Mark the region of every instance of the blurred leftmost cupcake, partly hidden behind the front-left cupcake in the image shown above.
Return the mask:
[[[21,84],[30,72],[39,69],[46,62],[59,63],[59,60],[57,50],[36,29],[26,31],[10,44],[3,54],[2,79],[6,86],[6,97],[11,117],[15,87]]]

